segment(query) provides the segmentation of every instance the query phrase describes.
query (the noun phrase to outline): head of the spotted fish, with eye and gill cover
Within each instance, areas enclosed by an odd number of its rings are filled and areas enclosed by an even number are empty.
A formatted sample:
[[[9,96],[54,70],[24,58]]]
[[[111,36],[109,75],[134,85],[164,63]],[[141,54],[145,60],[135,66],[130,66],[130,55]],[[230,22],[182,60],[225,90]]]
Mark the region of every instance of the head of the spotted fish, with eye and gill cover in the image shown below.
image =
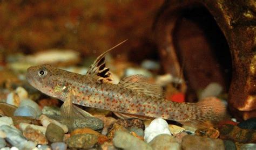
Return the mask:
[[[47,64],[32,66],[27,70],[26,79],[32,87],[44,94],[63,100],[63,91],[66,88],[63,72],[66,71]]]

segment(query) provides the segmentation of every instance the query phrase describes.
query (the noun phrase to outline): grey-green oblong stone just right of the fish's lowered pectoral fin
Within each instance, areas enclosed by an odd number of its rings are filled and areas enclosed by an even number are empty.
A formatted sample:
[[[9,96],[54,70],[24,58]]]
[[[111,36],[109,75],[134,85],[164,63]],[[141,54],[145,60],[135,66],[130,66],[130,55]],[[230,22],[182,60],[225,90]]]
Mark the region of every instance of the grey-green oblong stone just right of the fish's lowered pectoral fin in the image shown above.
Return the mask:
[[[91,128],[92,130],[100,130],[104,127],[103,121],[95,118],[77,118],[74,122],[74,128]]]

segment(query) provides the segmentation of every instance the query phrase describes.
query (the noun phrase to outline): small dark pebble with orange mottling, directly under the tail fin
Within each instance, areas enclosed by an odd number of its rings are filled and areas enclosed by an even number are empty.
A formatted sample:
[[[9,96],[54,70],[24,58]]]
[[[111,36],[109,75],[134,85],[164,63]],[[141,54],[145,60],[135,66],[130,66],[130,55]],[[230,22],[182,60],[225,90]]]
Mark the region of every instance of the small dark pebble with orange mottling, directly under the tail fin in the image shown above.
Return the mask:
[[[212,139],[217,139],[220,135],[220,132],[213,127],[200,128],[200,129],[196,130],[195,133],[196,133],[196,135],[199,135],[201,137],[208,137],[208,138],[212,138]]]

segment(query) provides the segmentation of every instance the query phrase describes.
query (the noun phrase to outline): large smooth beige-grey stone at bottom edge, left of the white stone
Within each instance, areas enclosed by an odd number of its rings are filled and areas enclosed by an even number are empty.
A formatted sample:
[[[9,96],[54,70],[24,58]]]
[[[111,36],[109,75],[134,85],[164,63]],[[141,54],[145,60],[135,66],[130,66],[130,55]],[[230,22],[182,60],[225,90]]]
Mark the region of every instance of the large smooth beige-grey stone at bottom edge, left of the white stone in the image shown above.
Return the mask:
[[[124,132],[124,131],[117,131],[114,134],[113,138],[113,144],[114,146],[126,150],[132,150],[132,149],[152,149],[146,142],[143,140],[140,140],[130,133]]]

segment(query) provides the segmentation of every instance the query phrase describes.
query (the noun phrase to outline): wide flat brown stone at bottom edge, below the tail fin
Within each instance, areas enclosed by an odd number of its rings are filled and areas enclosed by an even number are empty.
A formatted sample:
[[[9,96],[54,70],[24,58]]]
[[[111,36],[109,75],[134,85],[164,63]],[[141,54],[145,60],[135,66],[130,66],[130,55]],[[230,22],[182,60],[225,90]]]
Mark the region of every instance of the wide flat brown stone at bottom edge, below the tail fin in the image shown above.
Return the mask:
[[[221,139],[211,139],[211,138],[205,138],[200,137],[198,135],[186,135],[182,142],[181,147],[184,150],[187,149],[219,149],[219,150],[225,150],[224,142]]]

